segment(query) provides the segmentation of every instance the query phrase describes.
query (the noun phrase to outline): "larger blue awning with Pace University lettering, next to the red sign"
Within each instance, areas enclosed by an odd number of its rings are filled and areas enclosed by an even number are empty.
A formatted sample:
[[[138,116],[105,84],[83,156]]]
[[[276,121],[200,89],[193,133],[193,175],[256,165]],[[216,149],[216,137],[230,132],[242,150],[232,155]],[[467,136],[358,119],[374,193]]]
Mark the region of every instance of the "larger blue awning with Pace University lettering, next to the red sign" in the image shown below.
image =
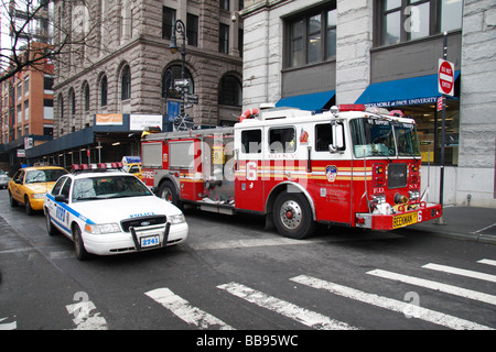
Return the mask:
[[[455,72],[455,80],[459,76],[460,70]],[[438,75],[429,75],[371,84],[355,103],[388,108],[435,103],[439,97]]]

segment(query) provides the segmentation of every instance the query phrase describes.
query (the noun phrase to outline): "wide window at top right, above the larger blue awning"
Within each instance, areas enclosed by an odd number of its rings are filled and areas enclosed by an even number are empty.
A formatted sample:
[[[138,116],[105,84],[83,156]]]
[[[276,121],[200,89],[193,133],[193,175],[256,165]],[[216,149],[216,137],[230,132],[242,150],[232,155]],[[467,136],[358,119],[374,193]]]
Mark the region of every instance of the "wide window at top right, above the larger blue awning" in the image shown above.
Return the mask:
[[[462,28],[462,0],[376,0],[377,45],[395,45]]]

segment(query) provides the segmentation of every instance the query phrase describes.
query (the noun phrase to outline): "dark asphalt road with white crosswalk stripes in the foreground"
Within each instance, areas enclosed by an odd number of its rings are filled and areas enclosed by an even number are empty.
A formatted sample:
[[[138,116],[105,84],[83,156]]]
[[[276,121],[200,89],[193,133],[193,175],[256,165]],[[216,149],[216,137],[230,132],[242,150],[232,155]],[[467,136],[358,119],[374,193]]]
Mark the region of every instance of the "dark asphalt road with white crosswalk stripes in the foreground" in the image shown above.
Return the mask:
[[[496,329],[493,244],[325,227],[296,241],[259,217],[187,210],[183,244],[79,262],[42,213],[6,190],[0,209],[0,330]]]

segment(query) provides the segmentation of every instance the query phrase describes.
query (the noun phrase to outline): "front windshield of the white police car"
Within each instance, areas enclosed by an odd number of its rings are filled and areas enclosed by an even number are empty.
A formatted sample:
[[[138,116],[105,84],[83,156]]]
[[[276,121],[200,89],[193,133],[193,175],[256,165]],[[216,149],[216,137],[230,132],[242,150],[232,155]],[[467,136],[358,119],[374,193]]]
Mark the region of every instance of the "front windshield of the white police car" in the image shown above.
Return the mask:
[[[99,176],[74,182],[73,201],[151,196],[134,176]]]

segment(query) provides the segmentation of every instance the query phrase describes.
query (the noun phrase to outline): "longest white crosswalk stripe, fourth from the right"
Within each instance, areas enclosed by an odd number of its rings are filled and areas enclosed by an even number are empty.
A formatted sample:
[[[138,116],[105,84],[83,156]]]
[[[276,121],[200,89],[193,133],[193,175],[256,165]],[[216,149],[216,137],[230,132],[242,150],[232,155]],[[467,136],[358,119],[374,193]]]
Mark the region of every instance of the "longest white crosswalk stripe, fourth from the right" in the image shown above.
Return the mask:
[[[489,327],[482,326],[476,322],[460,319],[439,311],[413,306],[411,304],[406,304],[403,301],[395,300],[391,298],[381,297],[375,294],[368,294],[355,288],[333,284],[315,277],[300,275],[296,277],[292,277],[290,279],[302,285],[306,285],[313,288],[325,289],[335,295],[352,298],[362,302],[366,302],[380,308],[386,308],[392,311],[403,314],[408,311],[409,315],[414,318],[422,319],[435,324],[441,324],[446,328],[456,330],[493,330]]]

